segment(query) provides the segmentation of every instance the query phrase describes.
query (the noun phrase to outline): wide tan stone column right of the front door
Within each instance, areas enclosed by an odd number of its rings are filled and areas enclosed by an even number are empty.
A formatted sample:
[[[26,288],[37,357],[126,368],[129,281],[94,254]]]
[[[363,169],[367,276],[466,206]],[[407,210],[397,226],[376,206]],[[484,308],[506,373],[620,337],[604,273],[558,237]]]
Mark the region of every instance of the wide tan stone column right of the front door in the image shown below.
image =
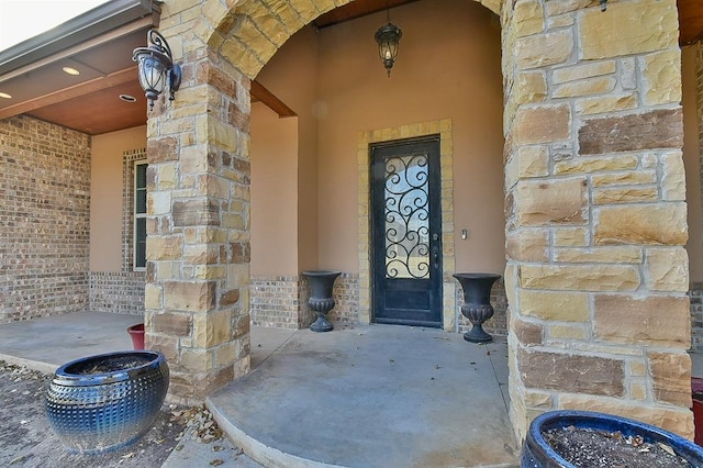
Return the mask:
[[[676,0],[502,5],[511,420],[693,435]]]

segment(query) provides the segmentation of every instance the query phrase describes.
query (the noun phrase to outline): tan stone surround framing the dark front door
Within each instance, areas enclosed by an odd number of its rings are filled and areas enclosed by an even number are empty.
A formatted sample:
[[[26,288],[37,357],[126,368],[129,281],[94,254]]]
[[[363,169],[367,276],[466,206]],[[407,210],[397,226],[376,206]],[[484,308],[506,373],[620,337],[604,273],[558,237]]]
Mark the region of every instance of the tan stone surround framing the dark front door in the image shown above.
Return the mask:
[[[454,229],[454,144],[450,119],[377,129],[358,135],[358,248],[359,248],[359,322],[371,323],[371,180],[369,145],[439,134],[442,186],[442,264],[443,264],[443,328],[458,330],[457,287],[455,272]]]

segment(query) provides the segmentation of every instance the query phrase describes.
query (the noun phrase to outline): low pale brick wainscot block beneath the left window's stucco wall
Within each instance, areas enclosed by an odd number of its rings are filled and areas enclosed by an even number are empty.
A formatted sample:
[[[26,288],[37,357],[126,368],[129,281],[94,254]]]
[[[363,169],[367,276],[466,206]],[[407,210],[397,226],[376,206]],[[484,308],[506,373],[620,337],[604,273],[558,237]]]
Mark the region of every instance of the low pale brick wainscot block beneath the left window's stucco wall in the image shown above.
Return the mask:
[[[90,310],[144,315],[144,272],[91,271]]]

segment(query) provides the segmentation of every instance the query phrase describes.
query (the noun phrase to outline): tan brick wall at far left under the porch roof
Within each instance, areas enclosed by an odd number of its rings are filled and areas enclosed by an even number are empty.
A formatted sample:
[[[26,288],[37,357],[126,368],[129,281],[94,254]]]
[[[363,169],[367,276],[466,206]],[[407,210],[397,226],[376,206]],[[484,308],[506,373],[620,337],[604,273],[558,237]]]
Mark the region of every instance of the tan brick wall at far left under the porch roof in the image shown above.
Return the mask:
[[[90,137],[0,121],[0,322],[88,305]]]

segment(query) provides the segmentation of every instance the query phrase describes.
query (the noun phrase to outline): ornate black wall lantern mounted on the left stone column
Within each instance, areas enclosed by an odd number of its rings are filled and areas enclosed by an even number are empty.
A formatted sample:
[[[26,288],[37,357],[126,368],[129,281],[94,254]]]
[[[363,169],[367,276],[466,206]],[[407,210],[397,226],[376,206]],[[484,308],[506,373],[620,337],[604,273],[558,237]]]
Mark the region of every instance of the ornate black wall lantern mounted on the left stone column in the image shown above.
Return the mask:
[[[182,74],[180,66],[174,64],[171,49],[166,38],[156,30],[149,30],[146,34],[149,42],[148,47],[137,47],[132,53],[132,59],[137,63],[140,71],[140,85],[145,91],[146,99],[149,100],[149,110],[154,109],[154,101],[159,94],[168,91],[170,101],[180,87]]]

